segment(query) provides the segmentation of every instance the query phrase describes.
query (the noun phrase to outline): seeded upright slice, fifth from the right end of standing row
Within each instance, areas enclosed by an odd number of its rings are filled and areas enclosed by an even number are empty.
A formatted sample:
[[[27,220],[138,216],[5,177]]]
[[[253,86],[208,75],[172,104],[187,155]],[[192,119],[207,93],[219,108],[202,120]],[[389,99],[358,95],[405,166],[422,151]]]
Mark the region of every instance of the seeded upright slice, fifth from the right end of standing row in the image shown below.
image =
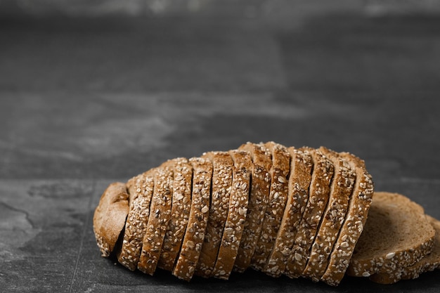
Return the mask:
[[[287,202],[287,178],[290,172],[290,154],[284,145],[270,141],[264,146],[272,153],[271,190],[261,225],[261,233],[251,260],[252,268],[263,270],[271,254]]]

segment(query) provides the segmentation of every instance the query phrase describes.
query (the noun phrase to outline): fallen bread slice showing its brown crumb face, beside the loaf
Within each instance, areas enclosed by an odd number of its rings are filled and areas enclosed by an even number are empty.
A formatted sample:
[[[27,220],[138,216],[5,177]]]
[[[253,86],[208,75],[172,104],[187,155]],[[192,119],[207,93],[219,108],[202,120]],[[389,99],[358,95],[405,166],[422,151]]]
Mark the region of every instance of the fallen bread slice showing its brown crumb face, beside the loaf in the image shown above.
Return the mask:
[[[431,252],[434,235],[419,204],[398,193],[375,193],[347,273],[370,277],[411,266]]]

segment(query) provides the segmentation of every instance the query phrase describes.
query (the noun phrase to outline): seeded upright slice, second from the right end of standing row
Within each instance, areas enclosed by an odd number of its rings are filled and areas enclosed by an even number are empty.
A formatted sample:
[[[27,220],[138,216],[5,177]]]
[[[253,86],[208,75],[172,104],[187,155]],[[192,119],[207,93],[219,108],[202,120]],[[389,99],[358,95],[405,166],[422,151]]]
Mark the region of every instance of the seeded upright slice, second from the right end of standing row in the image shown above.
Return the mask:
[[[321,279],[325,268],[327,268],[328,257],[347,215],[349,198],[356,178],[354,170],[344,159],[339,157],[337,152],[324,147],[319,148],[319,150],[333,162],[335,175],[330,186],[330,198],[323,219],[319,225],[315,241],[311,246],[309,261],[302,273],[303,277],[311,278],[315,282]]]

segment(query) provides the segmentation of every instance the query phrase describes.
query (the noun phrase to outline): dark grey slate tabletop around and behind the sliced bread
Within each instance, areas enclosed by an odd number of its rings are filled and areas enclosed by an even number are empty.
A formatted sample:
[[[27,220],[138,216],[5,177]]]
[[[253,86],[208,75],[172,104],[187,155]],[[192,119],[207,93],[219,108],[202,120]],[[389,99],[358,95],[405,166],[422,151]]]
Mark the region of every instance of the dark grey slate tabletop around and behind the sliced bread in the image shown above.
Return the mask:
[[[187,283],[101,258],[108,183],[246,141],[354,152],[440,218],[440,18],[282,8],[0,20],[1,292],[439,292],[440,271]]]

